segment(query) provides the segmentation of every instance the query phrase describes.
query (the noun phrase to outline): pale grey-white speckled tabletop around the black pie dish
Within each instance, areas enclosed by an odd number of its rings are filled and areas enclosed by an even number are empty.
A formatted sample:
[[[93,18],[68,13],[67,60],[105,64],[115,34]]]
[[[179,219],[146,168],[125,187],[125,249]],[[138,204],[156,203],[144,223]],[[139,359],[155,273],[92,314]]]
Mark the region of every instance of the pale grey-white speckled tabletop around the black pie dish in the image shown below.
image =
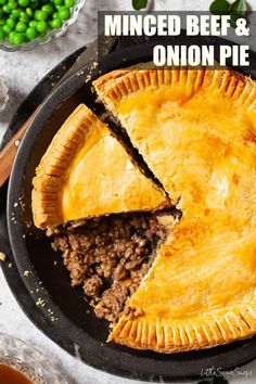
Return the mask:
[[[131,0],[86,0],[86,5],[77,23],[59,40],[39,47],[29,52],[7,53],[0,51],[0,74],[5,77],[10,88],[10,102],[0,114],[0,138],[8,123],[22,100],[36,84],[63,57],[97,36],[98,10],[131,10]],[[256,9],[256,0],[248,0],[252,9]],[[155,10],[207,10],[207,0],[155,0]],[[1,245],[0,245],[1,246]],[[1,251],[1,249],[0,249]],[[63,367],[68,384],[132,384],[135,381],[115,377],[99,372],[75,358],[68,356],[59,346],[44,336],[25,317],[0,272],[0,332],[16,335],[31,341],[48,356],[52,356]],[[256,382],[256,363],[252,362],[244,369],[253,370],[248,379],[238,376],[232,383],[253,384]]]

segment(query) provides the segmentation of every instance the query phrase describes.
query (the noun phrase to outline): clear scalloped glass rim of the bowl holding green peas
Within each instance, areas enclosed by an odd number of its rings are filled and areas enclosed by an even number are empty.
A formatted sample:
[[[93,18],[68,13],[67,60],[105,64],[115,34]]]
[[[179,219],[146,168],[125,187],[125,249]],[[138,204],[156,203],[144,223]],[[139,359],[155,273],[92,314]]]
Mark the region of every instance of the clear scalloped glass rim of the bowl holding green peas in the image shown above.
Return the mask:
[[[21,46],[15,46],[7,40],[3,40],[3,41],[0,41],[0,49],[2,49],[3,51],[8,51],[8,52],[28,51],[35,47],[46,44],[47,42],[51,41],[52,39],[55,39],[55,38],[64,35],[66,33],[67,28],[72,24],[74,24],[75,21],[77,20],[78,14],[79,14],[80,10],[82,9],[84,4],[85,4],[85,0],[77,0],[75,5],[71,10],[71,17],[63,23],[61,28],[49,30],[44,38],[42,38],[42,39],[37,38],[37,39],[31,40],[29,42],[24,42]]]

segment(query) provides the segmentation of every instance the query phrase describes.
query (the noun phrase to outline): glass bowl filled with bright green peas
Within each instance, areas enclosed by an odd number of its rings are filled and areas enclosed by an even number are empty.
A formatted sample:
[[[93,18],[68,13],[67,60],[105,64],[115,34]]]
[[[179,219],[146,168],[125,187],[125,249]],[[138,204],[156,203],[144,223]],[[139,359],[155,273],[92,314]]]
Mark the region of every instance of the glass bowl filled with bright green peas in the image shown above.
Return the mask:
[[[85,0],[0,0],[0,49],[30,50],[62,36]]]

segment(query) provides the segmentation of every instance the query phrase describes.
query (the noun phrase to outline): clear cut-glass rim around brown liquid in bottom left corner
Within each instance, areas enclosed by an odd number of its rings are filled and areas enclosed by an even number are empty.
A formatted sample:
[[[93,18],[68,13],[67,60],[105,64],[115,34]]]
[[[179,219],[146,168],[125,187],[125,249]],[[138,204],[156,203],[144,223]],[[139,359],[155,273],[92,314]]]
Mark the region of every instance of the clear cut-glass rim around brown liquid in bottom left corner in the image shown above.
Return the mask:
[[[59,369],[31,344],[0,333],[0,364],[14,368],[34,384],[67,384]]]

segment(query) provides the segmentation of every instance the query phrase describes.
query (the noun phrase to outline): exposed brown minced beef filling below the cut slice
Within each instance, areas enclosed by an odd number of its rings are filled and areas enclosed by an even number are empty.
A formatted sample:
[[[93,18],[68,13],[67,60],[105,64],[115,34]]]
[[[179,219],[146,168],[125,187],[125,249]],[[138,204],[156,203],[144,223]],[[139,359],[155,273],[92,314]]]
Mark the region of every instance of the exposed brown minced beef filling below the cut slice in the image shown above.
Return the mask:
[[[157,214],[111,215],[88,219],[54,236],[72,285],[82,284],[99,318],[116,321],[166,239]]]

